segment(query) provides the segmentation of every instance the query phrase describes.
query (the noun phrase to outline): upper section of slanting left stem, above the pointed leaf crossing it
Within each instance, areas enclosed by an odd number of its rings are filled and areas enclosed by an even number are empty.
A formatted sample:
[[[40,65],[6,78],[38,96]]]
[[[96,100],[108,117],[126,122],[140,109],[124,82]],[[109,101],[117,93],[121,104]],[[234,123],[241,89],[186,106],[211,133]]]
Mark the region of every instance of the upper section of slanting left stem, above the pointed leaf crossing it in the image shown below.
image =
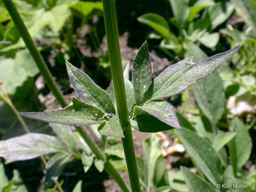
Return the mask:
[[[53,79],[53,77],[50,73],[50,70],[46,66],[41,54],[36,49],[36,45],[33,42],[33,39],[31,38],[31,36],[29,35],[28,30],[27,30],[24,22],[22,21],[22,19],[20,17],[20,14],[18,13],[17,9],[15,8],[13,2],[11,0],[3,0],[3,3],[5,5],[7,11],[11,15],[12,20],[15,24],[15,27],[18,29],[19,34],[22,37],[23,41],[25,42],[31,56],[33,57],[36,65],[37,65],[37,67],[40,71],[40,73],[44,77],[45,83],[47,84],[49,89],[54,94],[55,98],[60,103],[60,106],[61,107],[67,106],[67,103],[66,103],[61,91],[58,89],[58,86],[55,83],[55,81],[54,81],[54,79]]]

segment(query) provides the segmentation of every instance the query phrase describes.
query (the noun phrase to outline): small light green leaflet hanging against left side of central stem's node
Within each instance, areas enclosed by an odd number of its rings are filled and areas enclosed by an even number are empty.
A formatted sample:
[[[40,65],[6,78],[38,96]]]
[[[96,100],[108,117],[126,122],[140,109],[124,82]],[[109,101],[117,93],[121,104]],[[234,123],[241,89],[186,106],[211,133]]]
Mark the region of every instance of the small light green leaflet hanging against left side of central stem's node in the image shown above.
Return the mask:
[[[124,137],[122,127],[119,125],[116,116],[111,117],[103,127],[99,126],[98,132],[108,137]]]

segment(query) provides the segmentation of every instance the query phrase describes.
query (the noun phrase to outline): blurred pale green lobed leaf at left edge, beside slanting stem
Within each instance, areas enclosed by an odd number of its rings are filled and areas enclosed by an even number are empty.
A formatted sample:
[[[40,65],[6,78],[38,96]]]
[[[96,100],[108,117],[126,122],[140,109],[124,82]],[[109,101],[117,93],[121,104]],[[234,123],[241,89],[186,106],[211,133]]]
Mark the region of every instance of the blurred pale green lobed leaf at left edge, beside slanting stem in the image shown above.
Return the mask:
[[[17,52],[14,59],[0,61],[0,82],[4,84],[7,94],[14,94],[28,77],[38,74],[38,68],[28,50]]]

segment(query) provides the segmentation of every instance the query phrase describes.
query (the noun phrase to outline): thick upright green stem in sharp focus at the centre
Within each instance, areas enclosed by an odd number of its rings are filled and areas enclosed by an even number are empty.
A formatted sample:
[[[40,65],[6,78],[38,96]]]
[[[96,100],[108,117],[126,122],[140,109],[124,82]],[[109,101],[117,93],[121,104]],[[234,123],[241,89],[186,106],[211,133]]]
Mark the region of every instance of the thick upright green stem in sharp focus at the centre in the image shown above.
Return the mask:
[[[129,121],[126,95],[124,89],[123,67],[118,38],[118,27],[116,17],[115,0],[102,0],[103,15],[108,43],[108,54],[111,68],[111,75],[114,84],[117,112],[120,125],[124,132],[122,138],[124,154],[129,172],[132,191],[140,191],[136,158],[134,153],[131,124]]]

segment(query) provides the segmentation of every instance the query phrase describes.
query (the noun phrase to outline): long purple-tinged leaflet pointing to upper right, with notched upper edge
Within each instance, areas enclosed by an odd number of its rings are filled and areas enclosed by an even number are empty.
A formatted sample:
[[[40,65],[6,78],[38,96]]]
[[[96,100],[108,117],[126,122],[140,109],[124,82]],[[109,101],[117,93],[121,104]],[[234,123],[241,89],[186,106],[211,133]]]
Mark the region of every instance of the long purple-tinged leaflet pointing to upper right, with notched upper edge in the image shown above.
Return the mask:
[[[145,94],[146,100],[170,97],[193,85],[198,79],[209,75],[213,69],[228,60],[241,46],[214,55],[199,62],[192,62],[192,58],[184,59],[167,67],[159,74]]]

